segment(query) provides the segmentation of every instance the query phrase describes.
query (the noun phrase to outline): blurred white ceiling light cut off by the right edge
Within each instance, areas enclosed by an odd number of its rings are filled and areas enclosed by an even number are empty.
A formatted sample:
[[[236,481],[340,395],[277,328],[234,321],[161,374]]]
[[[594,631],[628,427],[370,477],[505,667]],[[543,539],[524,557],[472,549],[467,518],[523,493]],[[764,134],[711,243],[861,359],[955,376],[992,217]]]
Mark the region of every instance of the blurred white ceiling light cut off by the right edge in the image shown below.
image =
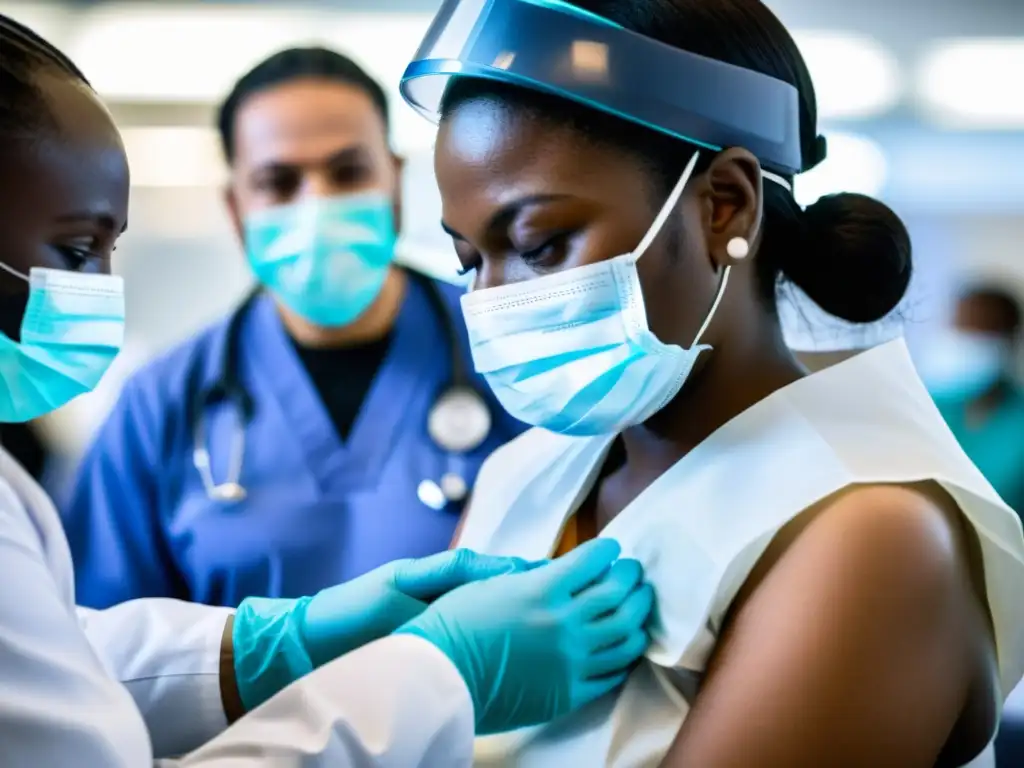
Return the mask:
[[[1024,38],[952,40],[924,58],[918,90],[929,116],[955,128],[1024,128]]]

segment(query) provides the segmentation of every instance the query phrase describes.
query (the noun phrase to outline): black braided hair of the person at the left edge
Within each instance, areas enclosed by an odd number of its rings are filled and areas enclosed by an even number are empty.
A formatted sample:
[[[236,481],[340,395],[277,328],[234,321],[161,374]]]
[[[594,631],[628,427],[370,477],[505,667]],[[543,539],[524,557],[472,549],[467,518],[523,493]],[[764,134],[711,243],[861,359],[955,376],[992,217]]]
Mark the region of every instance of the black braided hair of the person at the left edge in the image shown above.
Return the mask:
[[[41,71],[66,76],[89,87],[63,53],[13,18],[0,13],[0,135],[34,135],[56,121],[36,81]]]

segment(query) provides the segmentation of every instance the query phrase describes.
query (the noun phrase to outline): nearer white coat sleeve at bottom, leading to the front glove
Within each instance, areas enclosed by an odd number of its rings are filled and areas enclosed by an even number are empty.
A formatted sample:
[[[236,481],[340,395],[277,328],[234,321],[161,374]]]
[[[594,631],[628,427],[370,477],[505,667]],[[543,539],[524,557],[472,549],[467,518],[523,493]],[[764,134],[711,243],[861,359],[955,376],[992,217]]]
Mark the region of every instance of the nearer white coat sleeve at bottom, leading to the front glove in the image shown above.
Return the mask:
[[[164,768],[469,768],[474,716],[452,663],[392,636],[316,670]]]

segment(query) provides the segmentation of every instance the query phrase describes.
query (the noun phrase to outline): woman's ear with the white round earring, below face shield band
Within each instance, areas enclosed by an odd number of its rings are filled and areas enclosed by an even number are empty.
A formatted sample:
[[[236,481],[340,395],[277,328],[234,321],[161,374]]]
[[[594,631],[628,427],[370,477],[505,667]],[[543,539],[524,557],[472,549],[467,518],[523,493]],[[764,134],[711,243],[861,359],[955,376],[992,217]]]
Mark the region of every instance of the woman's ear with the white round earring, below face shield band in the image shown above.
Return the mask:
[[[761,229],[761,164],[746,150],[720,153],[705,174],[708,200],[708,252],[719,267],[734,266],[729,242],[740,238],[751,251]]]

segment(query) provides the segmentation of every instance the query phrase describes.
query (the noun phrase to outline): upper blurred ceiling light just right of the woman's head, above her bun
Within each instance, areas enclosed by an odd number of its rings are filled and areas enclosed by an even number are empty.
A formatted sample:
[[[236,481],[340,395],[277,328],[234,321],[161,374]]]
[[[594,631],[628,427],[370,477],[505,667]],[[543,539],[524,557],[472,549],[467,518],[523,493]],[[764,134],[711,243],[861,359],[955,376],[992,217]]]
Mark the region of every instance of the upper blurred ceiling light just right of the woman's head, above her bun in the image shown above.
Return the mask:
[[[830,32],[804,32],[794,37],[814,81],[819,118],[873,117],[899,101],[899,65],[873,39]]]

